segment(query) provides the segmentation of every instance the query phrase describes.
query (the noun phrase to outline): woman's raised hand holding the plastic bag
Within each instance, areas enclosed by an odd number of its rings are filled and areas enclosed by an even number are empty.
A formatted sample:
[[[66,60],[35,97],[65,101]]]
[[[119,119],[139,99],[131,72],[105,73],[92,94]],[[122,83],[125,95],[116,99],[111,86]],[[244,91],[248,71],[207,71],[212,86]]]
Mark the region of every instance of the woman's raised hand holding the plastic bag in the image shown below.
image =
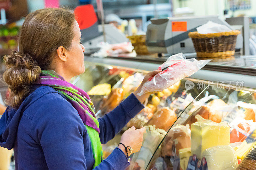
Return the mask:
[[[141,82],[140,86],[138,87],[138,89],[133,93],[137,99],[140,101],[140,103],[143,103],[151,93],[146,93],[146,94],[143,94],[141,96],[137,95],[138,93],[140,93],[140,89],[142,88],[143,84],[145,82],[148,81],[148,79],[150,79],[151,77],[154,77],[156,74],[160,73],[162,70],[155,70],[155,71],[151,71],[149,72],[143,79],[143,81]]]

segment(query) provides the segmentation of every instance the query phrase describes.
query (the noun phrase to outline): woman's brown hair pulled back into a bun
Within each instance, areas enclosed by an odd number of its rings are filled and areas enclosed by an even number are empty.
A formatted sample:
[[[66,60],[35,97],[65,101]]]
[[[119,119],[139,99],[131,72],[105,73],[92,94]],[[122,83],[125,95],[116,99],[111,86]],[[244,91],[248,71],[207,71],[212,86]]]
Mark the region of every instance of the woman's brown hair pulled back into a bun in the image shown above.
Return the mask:
[[[63,8],[45,8],[25,18],[19,33],[20,51],[4,56],[4,81],[11,89],[8,105],[18,108],[41,69],[50,69],[59,46],[71,48],[75,15]]]

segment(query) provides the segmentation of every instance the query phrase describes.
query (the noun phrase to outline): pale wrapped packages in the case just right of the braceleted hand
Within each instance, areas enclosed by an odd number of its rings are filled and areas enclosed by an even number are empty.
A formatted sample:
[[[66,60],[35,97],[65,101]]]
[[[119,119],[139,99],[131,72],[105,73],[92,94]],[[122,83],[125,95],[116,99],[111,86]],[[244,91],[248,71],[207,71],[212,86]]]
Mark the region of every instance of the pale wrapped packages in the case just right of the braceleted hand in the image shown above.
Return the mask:
[[[143,145],[139,152],[133,154],[129,170],[145,170],[153,153],[166,135],[166,131],[156,129],[155,126],[149,125],[144,127],[146,128],[146,133],[143,134]]]

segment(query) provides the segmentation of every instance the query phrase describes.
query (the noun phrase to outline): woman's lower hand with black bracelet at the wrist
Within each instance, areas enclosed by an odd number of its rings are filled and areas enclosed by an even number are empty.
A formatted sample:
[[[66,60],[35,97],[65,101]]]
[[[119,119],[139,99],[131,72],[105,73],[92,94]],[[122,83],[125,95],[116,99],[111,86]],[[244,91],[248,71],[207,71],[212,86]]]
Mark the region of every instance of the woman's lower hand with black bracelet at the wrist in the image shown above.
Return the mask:
[[[136,129],[132,126],[121,137],[120,143],[124,144],[125,147],[130,146],[132,148],[132,153],[136,153],[140,151],[140,147],[142,146],[143,134],[146,132],[146,128],[141,127],[140,129]],[[126,155],[126,151],[123,145],[118,145],[118,148],[121,149]],[[128,150],[129,156],[131,153]]]

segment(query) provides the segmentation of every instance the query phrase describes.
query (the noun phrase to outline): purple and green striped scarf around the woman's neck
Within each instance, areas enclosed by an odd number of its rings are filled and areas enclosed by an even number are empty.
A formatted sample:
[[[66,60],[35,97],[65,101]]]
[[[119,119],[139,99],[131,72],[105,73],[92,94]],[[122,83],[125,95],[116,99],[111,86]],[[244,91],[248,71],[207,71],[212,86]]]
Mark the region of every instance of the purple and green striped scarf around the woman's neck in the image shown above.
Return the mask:
[[[38,84],[50,86],[67,97],[68,102],[77,110],[79,116],[84,122],[87,133],[92,144],[92,152],[94,155],[94,166],[98,166],[102,161],[102,147],[100,143],[99,122],[95,116],[95,109],[88,94],[76,87],[75,85],[65,81],[63,77],[53,70],[42,70]]]

